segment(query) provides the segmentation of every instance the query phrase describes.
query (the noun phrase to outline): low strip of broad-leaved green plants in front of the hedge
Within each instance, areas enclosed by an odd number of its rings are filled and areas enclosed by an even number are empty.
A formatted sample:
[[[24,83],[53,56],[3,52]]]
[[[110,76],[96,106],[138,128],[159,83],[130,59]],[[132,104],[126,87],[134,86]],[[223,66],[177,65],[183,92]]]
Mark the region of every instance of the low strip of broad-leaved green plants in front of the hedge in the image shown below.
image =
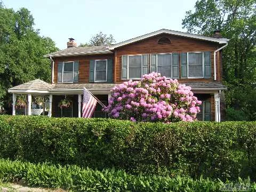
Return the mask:
[[[0,179],[19,181],[28,186],[71,189],[74,191],[221,191],[223,182],[209,178],[193,180],[189,177],[161,177],[131,175],[124,171],[106,169],[94,171],[76,165],[55,166],[22,163],[0,159]],[[250,191],[256,191],[256,183],[250,179],[236,181]],[[227,181],[235,187],[235,183]],[[249,190],[247,190],[249,191]]]

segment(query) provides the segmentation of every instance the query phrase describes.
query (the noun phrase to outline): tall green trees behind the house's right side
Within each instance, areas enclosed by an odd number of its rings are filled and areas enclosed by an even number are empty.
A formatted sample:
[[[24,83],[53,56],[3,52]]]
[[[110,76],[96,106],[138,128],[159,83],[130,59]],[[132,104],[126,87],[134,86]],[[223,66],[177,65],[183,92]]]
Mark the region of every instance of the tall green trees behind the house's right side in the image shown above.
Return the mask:
[[[256,92],[255,0],[198,0],[195,12],[187,11],[182,25],[189,33],[208,36],[220,29],[230,39],[222,60],[227,106],[243,110],[255,120],[256,108],[250,103],[253,95],[246,94],[243,102],[237,97],[241,91]]]

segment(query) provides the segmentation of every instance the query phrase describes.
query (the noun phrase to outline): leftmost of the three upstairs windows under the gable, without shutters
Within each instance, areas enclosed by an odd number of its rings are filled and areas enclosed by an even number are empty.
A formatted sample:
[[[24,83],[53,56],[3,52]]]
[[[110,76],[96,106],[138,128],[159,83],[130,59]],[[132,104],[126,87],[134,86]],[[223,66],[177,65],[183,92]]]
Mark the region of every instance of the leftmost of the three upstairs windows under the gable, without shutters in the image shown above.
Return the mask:
[[[130,79],[141,78],[142,55],[129,55],[128,66]]]

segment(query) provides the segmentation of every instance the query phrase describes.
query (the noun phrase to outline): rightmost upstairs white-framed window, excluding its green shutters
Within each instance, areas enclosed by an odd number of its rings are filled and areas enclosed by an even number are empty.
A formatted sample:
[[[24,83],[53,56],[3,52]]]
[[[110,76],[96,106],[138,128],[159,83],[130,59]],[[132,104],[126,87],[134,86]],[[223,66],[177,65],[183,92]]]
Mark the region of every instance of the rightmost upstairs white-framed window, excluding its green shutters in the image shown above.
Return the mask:
[[[188,78],[203,78],[203,52],[188,53]]]

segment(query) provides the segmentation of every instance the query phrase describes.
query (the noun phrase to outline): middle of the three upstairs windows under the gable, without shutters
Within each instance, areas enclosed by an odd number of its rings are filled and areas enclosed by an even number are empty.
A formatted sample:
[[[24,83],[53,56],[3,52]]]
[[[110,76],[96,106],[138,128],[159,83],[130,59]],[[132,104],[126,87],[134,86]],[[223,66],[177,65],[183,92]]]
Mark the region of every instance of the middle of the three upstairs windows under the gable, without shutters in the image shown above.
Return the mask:
[[[172,54],[157,54],[157,73],[172,77]]]

